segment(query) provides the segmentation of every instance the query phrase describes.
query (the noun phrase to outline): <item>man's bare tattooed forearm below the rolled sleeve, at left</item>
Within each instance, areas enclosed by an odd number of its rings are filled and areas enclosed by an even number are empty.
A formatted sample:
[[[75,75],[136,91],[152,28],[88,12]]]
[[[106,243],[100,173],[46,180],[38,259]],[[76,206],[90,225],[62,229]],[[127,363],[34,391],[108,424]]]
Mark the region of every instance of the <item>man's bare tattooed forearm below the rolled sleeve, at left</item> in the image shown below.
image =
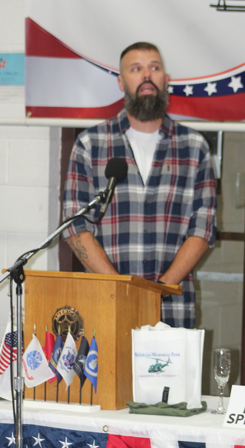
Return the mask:
[[[88,272],[118,274],[103,247],[90,232],[76,233],[66,241]]]

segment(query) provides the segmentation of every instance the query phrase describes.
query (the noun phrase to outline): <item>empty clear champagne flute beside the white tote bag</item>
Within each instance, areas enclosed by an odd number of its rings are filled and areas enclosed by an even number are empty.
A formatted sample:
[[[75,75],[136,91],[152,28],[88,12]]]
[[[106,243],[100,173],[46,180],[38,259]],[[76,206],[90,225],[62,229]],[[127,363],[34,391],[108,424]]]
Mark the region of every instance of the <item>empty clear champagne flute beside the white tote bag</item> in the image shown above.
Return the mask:
[[[223,405],[224,388],[228,382],[231,370],[231,353],[229,349],[214,349],[213,351],[213,372],[220,391],[219,405],[212,414],[225,414]]]

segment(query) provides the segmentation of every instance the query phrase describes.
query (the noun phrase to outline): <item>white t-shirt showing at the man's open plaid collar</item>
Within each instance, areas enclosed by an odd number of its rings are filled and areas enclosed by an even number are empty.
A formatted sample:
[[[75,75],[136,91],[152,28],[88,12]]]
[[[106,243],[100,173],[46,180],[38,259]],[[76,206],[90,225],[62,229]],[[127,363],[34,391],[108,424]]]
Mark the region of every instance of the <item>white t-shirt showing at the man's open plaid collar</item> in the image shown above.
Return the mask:
[[[146,133],[136,131],[129,128],[126,131],[129,143],[133,150],[133,155],[141,173],[144,184],[146,184],[147,177],[151,169],[151,164],[157,143],[160,140],[159,130],[153,133]]]

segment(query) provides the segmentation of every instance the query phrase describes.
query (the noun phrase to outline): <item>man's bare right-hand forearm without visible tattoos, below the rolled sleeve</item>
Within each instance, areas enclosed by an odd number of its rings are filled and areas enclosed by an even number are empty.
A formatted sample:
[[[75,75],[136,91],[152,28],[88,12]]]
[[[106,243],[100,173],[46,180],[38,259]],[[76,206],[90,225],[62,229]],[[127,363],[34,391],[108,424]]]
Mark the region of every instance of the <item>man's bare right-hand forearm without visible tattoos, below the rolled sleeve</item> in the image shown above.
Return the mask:
[[[168,270],[159,280],[166,284],[179,284],[196,266],[208,246],[208,241],[204,238],[188,237],[179,248]]]

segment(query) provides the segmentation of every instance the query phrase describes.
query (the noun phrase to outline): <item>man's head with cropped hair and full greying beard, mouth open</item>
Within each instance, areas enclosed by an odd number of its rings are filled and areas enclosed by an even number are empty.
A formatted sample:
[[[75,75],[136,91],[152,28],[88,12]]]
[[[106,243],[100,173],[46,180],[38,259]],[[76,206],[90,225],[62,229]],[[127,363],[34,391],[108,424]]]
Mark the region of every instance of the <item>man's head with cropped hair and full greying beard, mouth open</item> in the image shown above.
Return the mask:
[[[140,121],[153,121],[166,112],[168,76],[155,50],[131,50],[121,60],[118,84],[125,107]]]

